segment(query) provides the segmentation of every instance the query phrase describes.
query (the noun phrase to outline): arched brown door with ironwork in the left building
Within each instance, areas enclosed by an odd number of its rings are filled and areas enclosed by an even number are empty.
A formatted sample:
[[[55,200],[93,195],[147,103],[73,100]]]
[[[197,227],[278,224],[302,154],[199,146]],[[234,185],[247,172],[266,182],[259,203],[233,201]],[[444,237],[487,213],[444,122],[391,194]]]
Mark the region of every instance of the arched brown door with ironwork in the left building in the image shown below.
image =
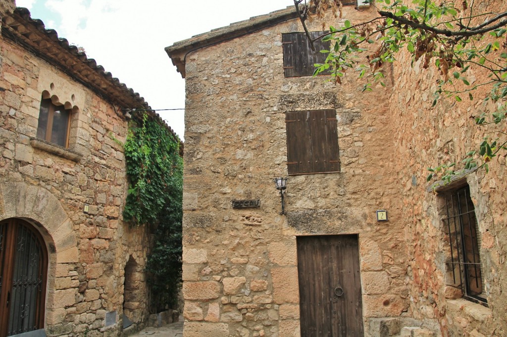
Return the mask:
[[[44,328],[48,252],[28,222],[0,222],[0,337]]]

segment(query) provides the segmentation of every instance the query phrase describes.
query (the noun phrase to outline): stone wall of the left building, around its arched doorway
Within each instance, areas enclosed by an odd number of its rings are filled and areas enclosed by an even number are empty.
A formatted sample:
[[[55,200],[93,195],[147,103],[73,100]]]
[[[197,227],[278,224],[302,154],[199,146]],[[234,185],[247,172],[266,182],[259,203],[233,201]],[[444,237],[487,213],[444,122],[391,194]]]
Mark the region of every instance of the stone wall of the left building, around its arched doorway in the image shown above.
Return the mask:
[[[131,229],[121,216],[127,120],[118,107],[10,41],[0,41],[0,55],[0,220],[23,218],[46,240],[46,333],[118,335],[127,261],[143,270],[149,246],[146,228]],[[42,98],[72,109],[69,149],[34,139]],[[128,310],[142,324],[146,282],[133,277],[140,283]]]

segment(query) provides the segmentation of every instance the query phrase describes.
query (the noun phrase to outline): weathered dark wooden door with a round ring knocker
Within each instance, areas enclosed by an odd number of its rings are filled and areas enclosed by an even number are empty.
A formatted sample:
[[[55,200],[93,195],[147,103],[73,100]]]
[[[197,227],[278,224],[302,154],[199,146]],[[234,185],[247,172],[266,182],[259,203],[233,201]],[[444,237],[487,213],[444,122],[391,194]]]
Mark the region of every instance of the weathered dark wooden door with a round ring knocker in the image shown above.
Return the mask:
[[[357,235],[299,236],[302,337],[364,336]]]

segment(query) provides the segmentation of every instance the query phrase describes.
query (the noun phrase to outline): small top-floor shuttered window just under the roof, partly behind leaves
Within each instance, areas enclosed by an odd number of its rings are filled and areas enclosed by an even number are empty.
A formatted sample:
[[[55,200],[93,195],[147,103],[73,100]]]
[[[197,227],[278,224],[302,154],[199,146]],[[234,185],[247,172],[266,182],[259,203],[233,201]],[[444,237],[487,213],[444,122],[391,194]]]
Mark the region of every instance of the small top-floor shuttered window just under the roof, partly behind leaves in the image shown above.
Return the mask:
[[[311,31],[312,39],[325,34],[324,31]],[[312,50],[310,41],[305,33],[282,34],[283,45],[283,69],[285,77],[312,76],[315,71],[315,63],[323,64],[328,57],[321,50],[329,50],[331,42],[317,39],[313,42],[315,51]],[[325,75],[326,73],[320,73]]]

